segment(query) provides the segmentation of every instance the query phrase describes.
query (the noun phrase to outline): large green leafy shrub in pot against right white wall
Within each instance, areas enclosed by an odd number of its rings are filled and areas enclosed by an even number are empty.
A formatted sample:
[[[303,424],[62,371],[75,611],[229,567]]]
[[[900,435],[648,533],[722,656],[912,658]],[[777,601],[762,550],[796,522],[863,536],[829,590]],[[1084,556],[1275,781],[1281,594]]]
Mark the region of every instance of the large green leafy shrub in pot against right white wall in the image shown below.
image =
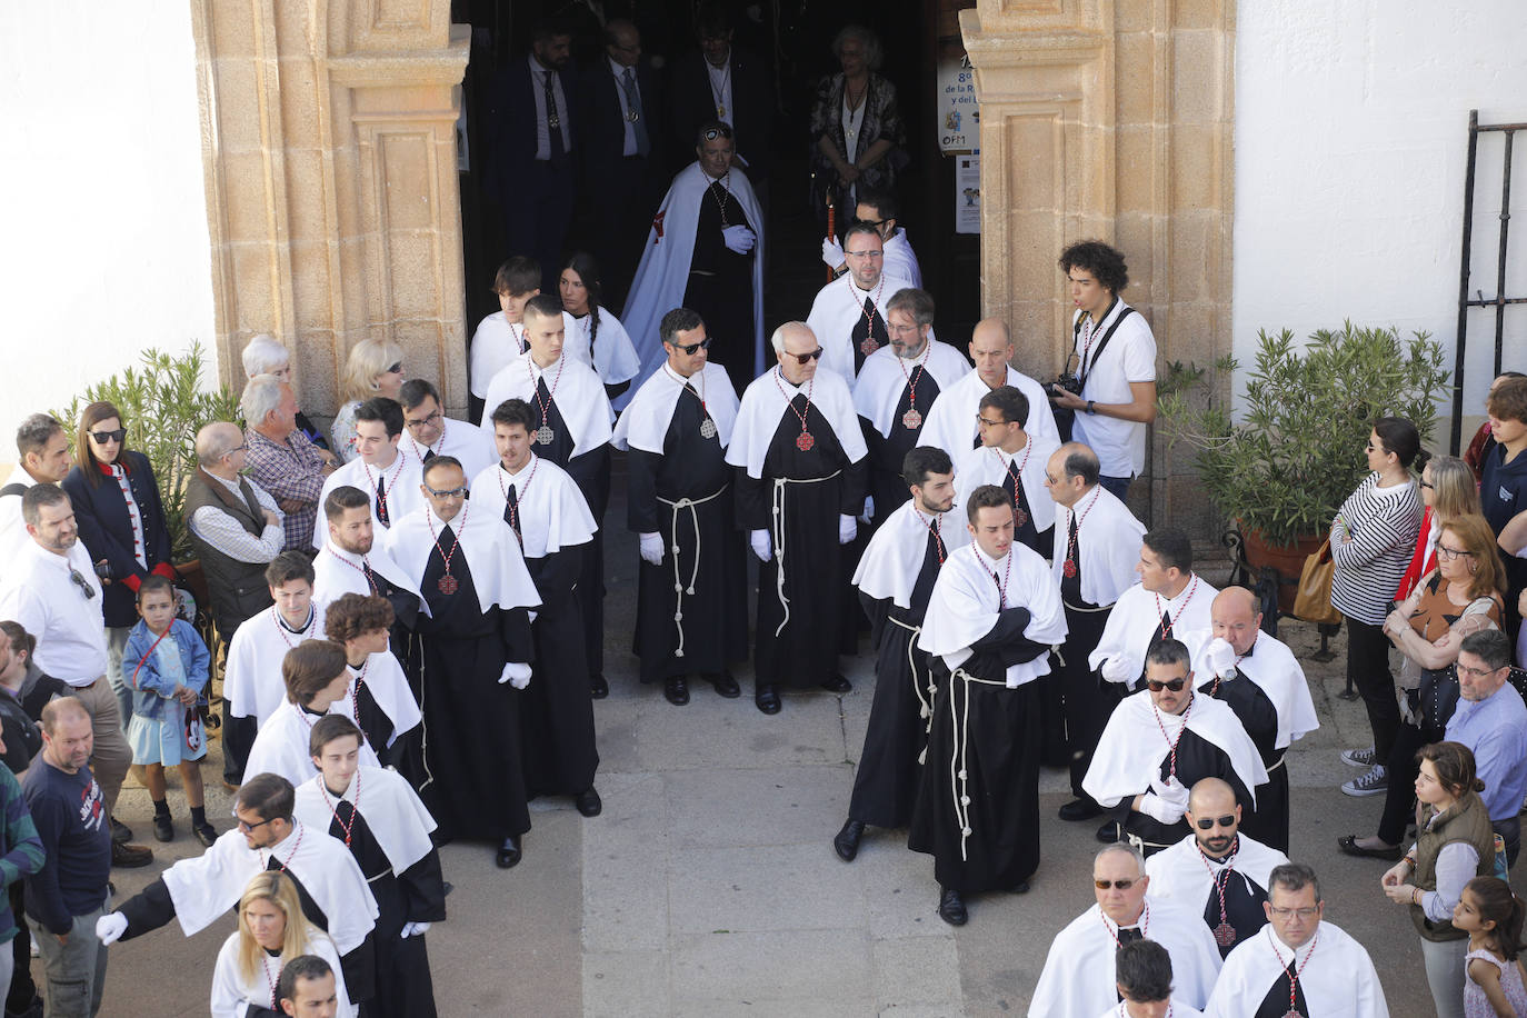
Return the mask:
[[[1157,401],[1157,429],[1168,447],[1182,443],[1196,455],[1203,491],[1240,527],[1252,568],[1278,569],[1284,610],[1304,559],[1367,470],[1373,420],[1409,418],[1425,444],[1449,392],[1441,345],[1428,333],[1400,339],[1399,330],[1350,321],[1303,346],[1290,330],[1258,331],[1257,366],[1235,412],[1226,398],[1234,357],[1174,368],[1185,383]]]

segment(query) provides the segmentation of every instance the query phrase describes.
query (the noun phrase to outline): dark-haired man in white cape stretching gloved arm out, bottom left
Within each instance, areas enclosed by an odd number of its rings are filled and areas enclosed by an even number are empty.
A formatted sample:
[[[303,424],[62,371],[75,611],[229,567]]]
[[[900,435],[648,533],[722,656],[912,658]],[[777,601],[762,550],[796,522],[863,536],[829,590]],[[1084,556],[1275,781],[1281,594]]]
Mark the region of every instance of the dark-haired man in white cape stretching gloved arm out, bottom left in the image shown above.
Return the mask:
[[[302,914],[334,942],[350,1000],[368,1000],[376,980],[376,897],[345,842],[293,820],[295,804],[296,791],[284,777],[250,775],[234,800],[238,824],[96,920],[96,937],[102,945],[131,940],[171,919],[194,937],[238,907],[250,878],[279,868],[296,884]]]

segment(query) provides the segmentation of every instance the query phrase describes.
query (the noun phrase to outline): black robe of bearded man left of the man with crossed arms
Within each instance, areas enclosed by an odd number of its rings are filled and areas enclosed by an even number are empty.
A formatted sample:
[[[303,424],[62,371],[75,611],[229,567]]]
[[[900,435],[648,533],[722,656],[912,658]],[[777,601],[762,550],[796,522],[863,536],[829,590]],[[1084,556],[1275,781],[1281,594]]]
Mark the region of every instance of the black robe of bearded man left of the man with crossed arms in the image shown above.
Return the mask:
[[[928,742],[928,719],[922,716],[918,690],[931,685],[928,655],[912,646],[913,629],[922,626],[933,581],[939,578],[941,548],[928,528],[922,569],[912,588],[912,606],[892,598],[860,595],[870,618],[875,646],[875,699],[864,726],[864,748],[854,775],[849,818],[875,827],[906,827],[918,800],[922,768],[918,757]]]

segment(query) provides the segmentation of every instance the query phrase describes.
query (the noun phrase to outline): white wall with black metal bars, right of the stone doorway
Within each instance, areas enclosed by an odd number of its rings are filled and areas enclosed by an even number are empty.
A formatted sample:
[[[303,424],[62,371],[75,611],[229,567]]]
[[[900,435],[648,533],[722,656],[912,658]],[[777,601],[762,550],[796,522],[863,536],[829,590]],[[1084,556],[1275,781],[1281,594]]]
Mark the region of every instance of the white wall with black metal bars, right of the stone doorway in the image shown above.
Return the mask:
[[[1304,337],[1347,317],[1431,331],[1451,369],[1467,118],[1527,121],[1522,0],[1245,0],[1235,43],[1243,371],[1258,328]],[[1471,296],[1495,296],[1503,137],[1480,142]],[[1527,134],[1513,160],[1506,290],[1527,296]],[[1471,311],[1466,415],[1483,414],[1493,343],[1493,308]],[[1504,357],[1527,371],[1527,305],[1507,308]]]

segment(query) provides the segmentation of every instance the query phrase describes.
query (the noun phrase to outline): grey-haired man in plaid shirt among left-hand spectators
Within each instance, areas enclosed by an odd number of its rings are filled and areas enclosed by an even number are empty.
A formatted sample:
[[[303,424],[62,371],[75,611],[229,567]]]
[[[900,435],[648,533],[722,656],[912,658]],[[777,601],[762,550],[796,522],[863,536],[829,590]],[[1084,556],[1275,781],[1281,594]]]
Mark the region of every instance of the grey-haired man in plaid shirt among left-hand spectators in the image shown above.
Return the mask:
[[[255,375],[240,400],[249,478],[286,513],[286,551],[307,548],[318,519],[318,496],[334,472],[334,453],[319,449],[296,426],[296,394],[273,374]]]

